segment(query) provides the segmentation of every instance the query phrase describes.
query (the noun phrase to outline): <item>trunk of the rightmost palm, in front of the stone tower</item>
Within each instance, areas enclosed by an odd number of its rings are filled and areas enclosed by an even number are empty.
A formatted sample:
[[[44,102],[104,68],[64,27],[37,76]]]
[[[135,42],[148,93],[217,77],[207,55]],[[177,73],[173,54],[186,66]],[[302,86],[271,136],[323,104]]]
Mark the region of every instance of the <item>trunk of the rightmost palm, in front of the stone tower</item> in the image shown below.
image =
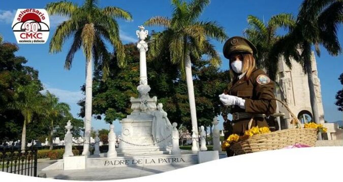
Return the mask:
[[[310,102],[311,102],[313,121],[315,121],[315,123],[319,124],[320,120],[319,120],[318,105],[317,105],[316,92],[315,92],[315,85],[313,84],[313,74],[312,74],[311,60],[305,59],[305,67],[306,67],[306,72],[307,72],[307,81],[308,81],[308,88],[309,88],[309,99],[310,99]],[[321,132],[318,132],[318,140],[322,140],[322,133]]]

